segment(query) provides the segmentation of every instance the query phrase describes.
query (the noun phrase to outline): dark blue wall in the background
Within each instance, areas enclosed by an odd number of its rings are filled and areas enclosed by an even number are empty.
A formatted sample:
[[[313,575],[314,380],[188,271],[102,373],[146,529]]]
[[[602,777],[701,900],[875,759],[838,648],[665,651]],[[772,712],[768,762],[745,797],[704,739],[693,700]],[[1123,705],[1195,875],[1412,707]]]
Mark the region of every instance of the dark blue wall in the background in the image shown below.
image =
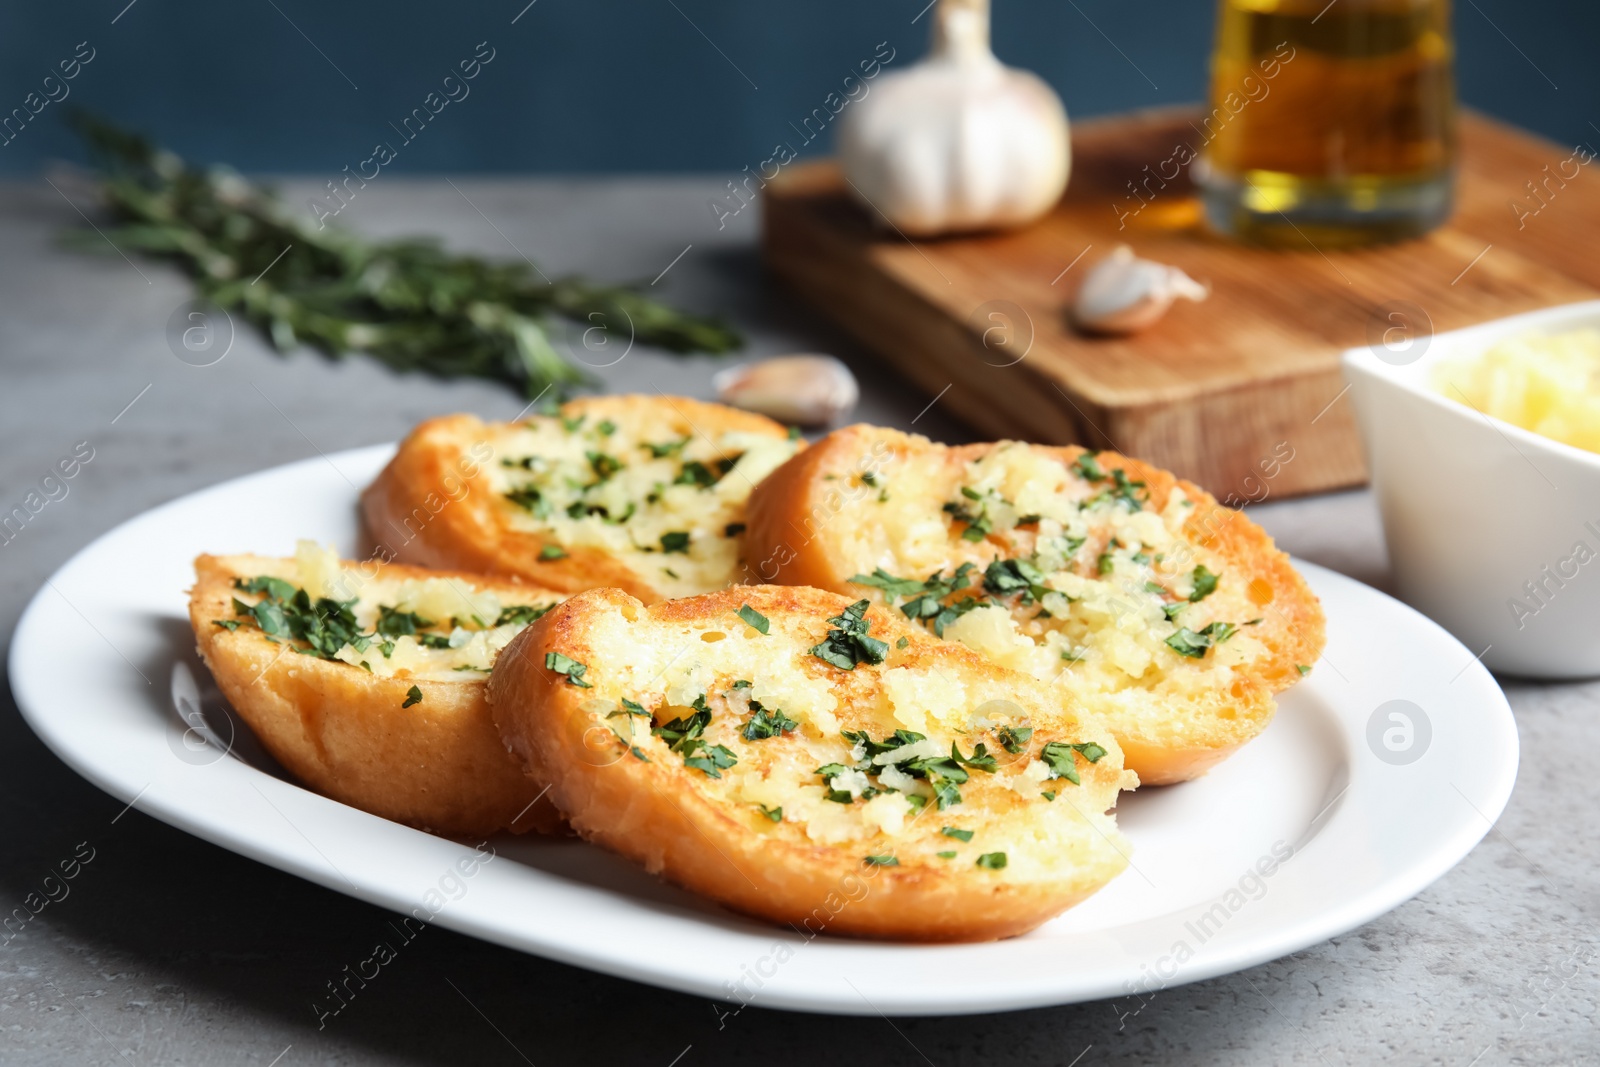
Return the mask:
[[[792,139],[789,123],[878,42],[898,67],[928,37],[926,16],[912,22],[926,0],[525,3],[6,3],[0,114],[88,42],[94,59],[67,102],[195,160],[331,176],[376,141],[398,144],[389,123],[488,42],[470,96],[395,171],[738,171]],[[995,50],[1078,117],[1198,99],[1213,14],[1210,0],[995,0]],[[1600,141],[1600,5],[1467,0],[1456,34],[1467,104],[1568,146]],[[0,173],[82,158],[62,110],[50,104],[0,147]]]

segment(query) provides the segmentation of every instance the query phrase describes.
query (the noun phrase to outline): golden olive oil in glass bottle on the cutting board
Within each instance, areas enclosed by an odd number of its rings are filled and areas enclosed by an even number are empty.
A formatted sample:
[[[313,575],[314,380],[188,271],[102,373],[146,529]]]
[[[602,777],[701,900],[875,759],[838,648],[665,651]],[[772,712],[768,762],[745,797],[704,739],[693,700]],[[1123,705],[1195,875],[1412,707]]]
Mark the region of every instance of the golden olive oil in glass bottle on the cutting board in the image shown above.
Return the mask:
[[[1219,0],[1206,219],[1291,248],[1424,234],[1450,214],[1454,109],[1450,0]]]

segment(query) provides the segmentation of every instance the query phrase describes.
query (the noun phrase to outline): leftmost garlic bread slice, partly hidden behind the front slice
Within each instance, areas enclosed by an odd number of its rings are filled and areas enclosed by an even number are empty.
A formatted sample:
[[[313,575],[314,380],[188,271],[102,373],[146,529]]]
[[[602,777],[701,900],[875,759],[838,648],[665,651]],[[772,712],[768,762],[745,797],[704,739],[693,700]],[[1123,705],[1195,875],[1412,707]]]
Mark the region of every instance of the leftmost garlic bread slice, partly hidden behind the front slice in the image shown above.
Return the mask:
[[[562,595],[472,574],[202,555],[189,593],[200,656],[262,747],[310,789],[446,835],[557,830],[494,731],[485,680]]]

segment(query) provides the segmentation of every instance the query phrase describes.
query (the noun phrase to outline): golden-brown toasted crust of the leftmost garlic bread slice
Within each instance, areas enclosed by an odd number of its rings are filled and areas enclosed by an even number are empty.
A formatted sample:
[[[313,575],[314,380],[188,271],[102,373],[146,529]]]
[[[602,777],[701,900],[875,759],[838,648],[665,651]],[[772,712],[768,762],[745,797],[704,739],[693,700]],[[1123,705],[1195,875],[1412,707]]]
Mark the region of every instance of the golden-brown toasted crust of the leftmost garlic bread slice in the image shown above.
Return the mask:
[[[384,819],[450,837],[501,830],[560,832],[555,808],[538,800],[507,753],[485,701],[485,683],[374,677],[339,661],[299,656],[254,627],[229,632],[234,579],[262,573],[261,557],[195,560],[189,621],[218,688],[262,747],[310,789]],[[440,571],[368,563],[371,577],[442,577]],[[478,589],[528,603],[549,592],[450,573]],[[560,593],[549,592],[558,598]],[[410,688],[422,702],[403,707]]]

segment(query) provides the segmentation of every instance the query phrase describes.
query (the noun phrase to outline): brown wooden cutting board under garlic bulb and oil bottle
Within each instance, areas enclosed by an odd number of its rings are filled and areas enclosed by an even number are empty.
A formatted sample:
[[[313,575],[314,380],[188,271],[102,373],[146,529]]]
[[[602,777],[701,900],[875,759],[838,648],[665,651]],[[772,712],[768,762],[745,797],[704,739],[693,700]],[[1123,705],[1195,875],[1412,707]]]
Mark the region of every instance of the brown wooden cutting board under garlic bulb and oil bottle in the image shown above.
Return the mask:
[[[1200,144],[1195,114],[1075,123],[1067,195],[1002,235],[909,242],[835,163],[795,165],[765,190],[766,264],[976,430],[1115,448],[1240,501],[1365,482],[1344,349],[1600,296],[1600,160],[1467,114],[1448,226],[1357,251],[1254,250],[1202,229],[1187,168],[1150,179]],[[1133,338],[1077,334],[1064,304],[1118,243],[1211,299]]]

